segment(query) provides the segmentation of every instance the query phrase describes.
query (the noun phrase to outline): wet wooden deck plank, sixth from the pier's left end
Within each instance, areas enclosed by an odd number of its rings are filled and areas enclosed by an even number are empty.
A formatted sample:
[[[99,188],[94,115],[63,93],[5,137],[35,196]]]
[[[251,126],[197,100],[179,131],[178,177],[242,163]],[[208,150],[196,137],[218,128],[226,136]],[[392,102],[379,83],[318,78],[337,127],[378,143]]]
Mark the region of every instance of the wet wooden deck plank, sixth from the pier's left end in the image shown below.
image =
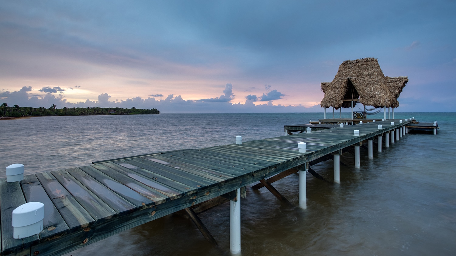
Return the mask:
[[[101,171],[98,171],[93,166],[82,166],[79,167],[82,171],[92,176],[95,180],[108,187],[110,190],[115,191],[119,196],[132,203],[136,207],[144,208],[155,205],[155,202],[149,198],[140,195],[130,187],[125,186],[119,181],[107,176]]]

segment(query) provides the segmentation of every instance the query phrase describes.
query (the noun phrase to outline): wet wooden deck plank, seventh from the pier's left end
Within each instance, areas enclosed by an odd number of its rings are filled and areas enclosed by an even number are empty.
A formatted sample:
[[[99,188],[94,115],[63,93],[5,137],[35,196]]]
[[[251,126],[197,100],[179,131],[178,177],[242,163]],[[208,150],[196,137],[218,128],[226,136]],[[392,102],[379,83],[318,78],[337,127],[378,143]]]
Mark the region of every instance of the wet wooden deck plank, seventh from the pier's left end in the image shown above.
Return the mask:
[[[155,205],[164,203],[166,201],[170,200],[169,196],[165,196],[164,194],[160,193],[159,191],[156,191],[155,189],[152,189],[148,186],[145,186],[144,184],[135,181],[134,179],[124,176],[118,171],[115,171],[109,167],[107,168],[101,168],[102,165],[93,165],[92,167],[95,169],[98,169],[98,171],[101,171],[105,175],[109,176],[110,178],[113,178],[114,180],[118,181],[121,184],[124,184],[125,186],[129,187],[130,189],[134,190],[135,192],[139,193],[142,196],[145,196],[149,198],[151,201],[154,202]]]

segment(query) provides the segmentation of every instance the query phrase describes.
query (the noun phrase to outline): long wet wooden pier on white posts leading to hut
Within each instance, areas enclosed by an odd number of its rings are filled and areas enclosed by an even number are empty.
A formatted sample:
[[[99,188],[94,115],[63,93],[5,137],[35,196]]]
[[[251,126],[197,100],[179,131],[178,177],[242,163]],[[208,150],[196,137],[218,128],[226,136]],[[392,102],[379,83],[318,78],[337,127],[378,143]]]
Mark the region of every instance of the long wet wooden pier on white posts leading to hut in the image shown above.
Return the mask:
[[[336,161],[338,166],[342,152],[354,146],[356,154],[358,148],[359,162],[359,146],[363,141],[369,141],[370,157],[373,139],[378,138],[381,151],[382,143],[389,144],[386,135],[391,133],[394,139],[400,130],[402,137],[403,131],[405,134],[402,128],[410,122],[385,120],[343,128],[332,125],[328,127],[331,129],[240,145],[161,152],[49,170],[26,175],[19,182],[1,179],[1,255],[62,255],[183,209],[198,222],[192,206],[219,196],[233,203],[230,212],[235,216],[240,207],[236,204],[240,203],[240,188],[260,181],[280,198],[270,183],[297,171],[300,172],[300,207],[305,208],[305,174],[310,171],[309,163],[334,159],[334,181],[337,182]],[[359,130],[359,136],[354,136],[354,130]],[[386,140],[382,142],[383,135]],[[306,143],[304,153],[298,151],[300,142]],[[43,230],[34,236],[14,239],[12,211],[31,201],[44,204]],[[238,253],[240,217],[230,218],[234,232],[231,233],[231,250]]]

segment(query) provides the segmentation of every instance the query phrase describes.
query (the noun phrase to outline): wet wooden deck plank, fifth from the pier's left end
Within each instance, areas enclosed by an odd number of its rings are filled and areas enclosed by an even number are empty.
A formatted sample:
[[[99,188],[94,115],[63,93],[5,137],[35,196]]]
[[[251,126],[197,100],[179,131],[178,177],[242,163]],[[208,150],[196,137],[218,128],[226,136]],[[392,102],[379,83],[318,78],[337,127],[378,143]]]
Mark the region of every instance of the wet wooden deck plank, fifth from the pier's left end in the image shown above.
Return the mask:
[[[65,171],[83,184],[88,190],[92,191],[93,194],[102,199],[107,205],[109,205],[109,207],[114,209],[119,216],[138,210],[138,208],[132,203],[124,199],[122,196],[119,196],[116,192],[103,186],[103,184],[96,181],[92,176],[89,176],[81,169],[70,168]]]

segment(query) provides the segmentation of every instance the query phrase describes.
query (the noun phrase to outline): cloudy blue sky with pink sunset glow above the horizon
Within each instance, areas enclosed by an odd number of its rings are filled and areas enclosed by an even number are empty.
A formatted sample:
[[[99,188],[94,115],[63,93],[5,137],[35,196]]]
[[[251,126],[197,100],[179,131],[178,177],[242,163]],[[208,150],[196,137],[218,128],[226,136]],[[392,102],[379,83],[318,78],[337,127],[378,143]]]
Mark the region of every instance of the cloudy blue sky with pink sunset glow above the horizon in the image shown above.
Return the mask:
[[[456,112],[456,1],[1,1],[0,102],[322,112],[344,60],[408,76],[397,112]]]

